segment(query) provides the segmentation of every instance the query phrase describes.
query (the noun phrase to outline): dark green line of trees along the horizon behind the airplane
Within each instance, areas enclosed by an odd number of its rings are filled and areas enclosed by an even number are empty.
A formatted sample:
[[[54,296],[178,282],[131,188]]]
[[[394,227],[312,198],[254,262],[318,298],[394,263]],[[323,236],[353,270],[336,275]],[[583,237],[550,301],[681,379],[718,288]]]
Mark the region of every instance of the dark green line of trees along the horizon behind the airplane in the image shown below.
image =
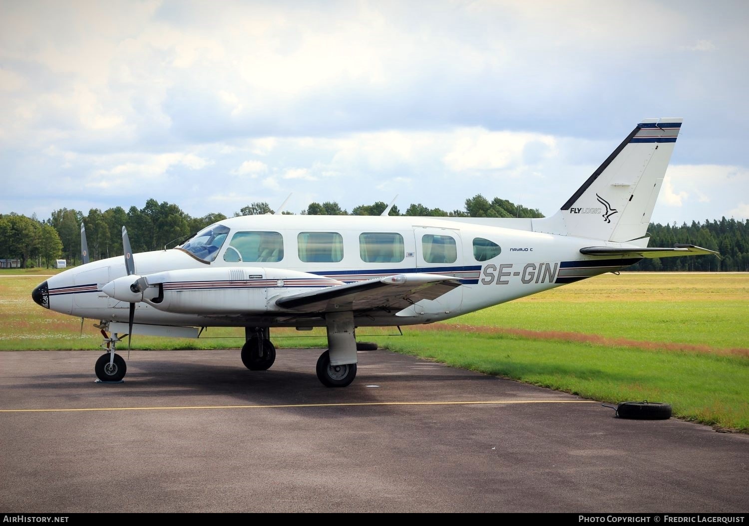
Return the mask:
[[[302,215],[380,215],[387,204],[376,201],[361,204],[351,212],[342,209],[335,201],[310,203]],[[255,202],[242,207],[237,215],[273,213],[265,202]],[[282,212],[291,214],[292,212]],[[489,201],[483,195],[475,195],[465,201],[463,210],[442,210],[428,208],[422,204],[410,204],[404,212],[393,206],[389,215],[421,215],[440,217],[485,217],[485,218],[540,218],[538,209],[514,204],[506,199],[494,198]],[[159,250],[165,246],[179,245],[184,239],[221,221],[227,216],[221,212],[211,212],[200,217],[192,217],[176,204],[155,199],[146,201],[142,208],[122,207],[107,210],[97,208],[84,214],[80,210],[61,208],[54,210],[46,220],[18,215],[14,212],[0,215],[0,259],[18,259],[22,267],[31,264],[52,265],[62,257],[71,265],[80,263],[80,225],[84,224],[88,252],[92,260],[114,257],[122,254],[122,226],[127,227],[133,251]],[[721,218],[720,221],[706,220],[704,223],[692,221],[682,226],[650,224],[650,246],[672,247],[675,243],[691,243],[719,251],[722,260],[716,257],[670,257],[642,260],[633,270],[651,271],[742,271],[749,272],[749,220]]]

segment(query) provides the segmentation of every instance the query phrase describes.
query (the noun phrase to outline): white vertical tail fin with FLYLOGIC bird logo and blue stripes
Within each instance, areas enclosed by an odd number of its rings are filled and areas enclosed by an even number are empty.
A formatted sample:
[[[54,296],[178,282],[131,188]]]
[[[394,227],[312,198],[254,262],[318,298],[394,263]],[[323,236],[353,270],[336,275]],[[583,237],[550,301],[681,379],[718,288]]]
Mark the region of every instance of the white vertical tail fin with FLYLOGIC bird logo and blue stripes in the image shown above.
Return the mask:
[[[645,236],[680,118],[643,119],[556,214],[536,232],[627,242]]]

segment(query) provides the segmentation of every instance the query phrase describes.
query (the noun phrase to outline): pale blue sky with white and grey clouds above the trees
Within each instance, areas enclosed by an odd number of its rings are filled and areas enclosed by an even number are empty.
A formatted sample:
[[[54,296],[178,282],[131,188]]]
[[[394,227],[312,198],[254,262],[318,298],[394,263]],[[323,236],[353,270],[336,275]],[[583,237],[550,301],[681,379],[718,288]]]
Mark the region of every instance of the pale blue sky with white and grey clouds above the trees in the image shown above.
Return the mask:
[[[558,210],[684,117],[654,221],[749,218],[746,1],[0,0],[0,212]]]

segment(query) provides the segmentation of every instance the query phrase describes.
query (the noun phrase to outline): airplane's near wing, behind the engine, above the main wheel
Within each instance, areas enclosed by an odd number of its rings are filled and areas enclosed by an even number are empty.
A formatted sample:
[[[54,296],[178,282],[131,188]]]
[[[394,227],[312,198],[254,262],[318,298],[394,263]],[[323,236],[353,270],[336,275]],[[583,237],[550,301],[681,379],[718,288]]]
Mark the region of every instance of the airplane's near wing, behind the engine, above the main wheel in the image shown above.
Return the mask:
[[[450,276],[398,274],[282,296],[276,299],[276,305],[294,312],[369,311],[375,308],[401,311],[422,299],[437,299],[460,285],[460,281]]]

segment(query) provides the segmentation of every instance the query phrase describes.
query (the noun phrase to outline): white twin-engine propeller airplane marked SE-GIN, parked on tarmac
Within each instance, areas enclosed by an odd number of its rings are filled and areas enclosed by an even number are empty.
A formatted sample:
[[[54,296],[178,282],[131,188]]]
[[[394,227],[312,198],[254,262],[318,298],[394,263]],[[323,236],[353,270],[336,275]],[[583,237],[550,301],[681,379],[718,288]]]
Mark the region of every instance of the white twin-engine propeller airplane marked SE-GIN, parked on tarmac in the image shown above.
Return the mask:
[[[648,248],[646,230],[682,119],[645,119],[548,218],[249,215],[212,224],[171,250],[84,263],[31,294],[44,308],[100,320],[97,377],[118,382],[125,334],[198,337],[244,327],[250,370],[276,358],[271,327],[326,327],[317,364],[327,387],[357,374],[354,331],[437,322],[643,257],[717,254]],[[107,331],[112,336],[107,335]]]

